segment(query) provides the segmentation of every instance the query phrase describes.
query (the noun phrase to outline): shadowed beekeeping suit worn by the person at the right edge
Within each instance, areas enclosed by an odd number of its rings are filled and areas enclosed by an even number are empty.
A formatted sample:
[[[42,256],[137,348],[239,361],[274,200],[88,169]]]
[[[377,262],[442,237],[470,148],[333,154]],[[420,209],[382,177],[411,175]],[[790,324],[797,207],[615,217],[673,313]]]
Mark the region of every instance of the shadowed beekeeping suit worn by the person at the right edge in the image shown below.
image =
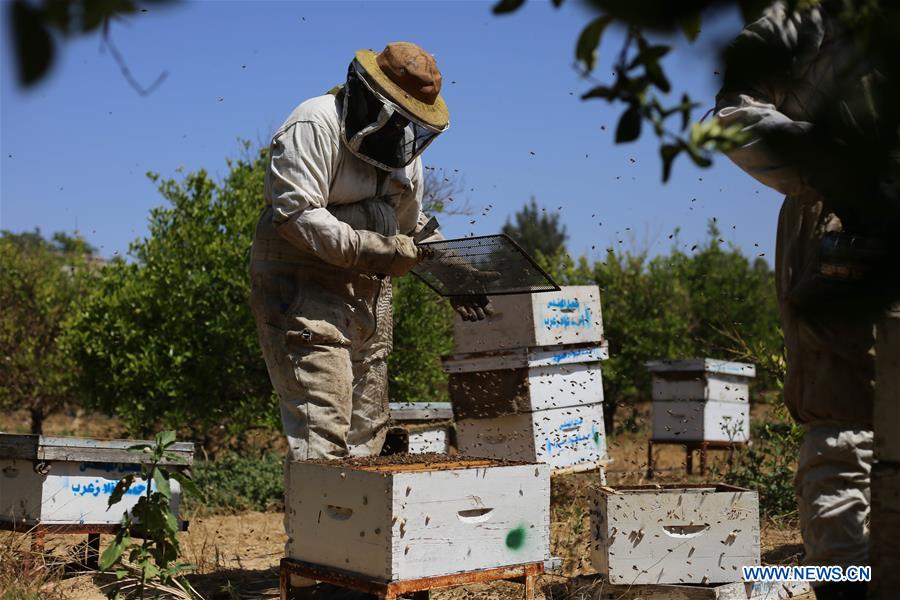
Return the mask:
[[[853,318],[847,311],[811,311],[797,301],[804,274],[816,266],[822,237],[844,226],[819,183],[851,178],[827,150],[817,156],[815,148],[808,148],[798,155],[773,141],[803,139],[825,112],[825,103],[834,101],[838,87],[848,77],[860,76],[865,65],[826,9],[789,13],[776,3],[736,44],[743,45],[745,55],[785,59],[783,69],[761,69],[768,72],[749,77],[726,74],[716,114],[724,124],[741,124],[753,134],[729,157],[787,194],[778,222],[775,269],[788,360],[785,402],[807,428],[796,475],[806,561],[866,565],[874,319]]]

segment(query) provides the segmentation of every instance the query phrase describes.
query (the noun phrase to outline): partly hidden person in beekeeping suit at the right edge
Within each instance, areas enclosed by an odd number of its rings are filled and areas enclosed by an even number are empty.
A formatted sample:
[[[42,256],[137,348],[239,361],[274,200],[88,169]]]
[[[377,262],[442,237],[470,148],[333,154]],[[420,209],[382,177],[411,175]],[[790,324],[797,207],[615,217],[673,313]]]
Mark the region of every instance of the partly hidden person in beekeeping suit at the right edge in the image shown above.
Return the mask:
[[[844,128],[838,121],[853,123],[848,131],[877,122],[859,92],[873,66],[842,29],[834,4],[791,13],[775,3],[750,24],[732,46],[744,62],[725,74],[716,114],[752,135],[729,157],[787,194],[775,270],[787,348],[784,397],[806,426],[796,474],[805,561],[847,567],[869,564],[876,318],[847,308],[853,286],[864,284],[852,281],[852,267],[829,266],[823,240],[839,248],[853,234],[877,230],[846,208],[893,192],[890,182],[854,172],[853,157],[828,143]],[[853,222],[839,214],[854,215]],[[866,596],[864,583],[815,590],[819,599]]]

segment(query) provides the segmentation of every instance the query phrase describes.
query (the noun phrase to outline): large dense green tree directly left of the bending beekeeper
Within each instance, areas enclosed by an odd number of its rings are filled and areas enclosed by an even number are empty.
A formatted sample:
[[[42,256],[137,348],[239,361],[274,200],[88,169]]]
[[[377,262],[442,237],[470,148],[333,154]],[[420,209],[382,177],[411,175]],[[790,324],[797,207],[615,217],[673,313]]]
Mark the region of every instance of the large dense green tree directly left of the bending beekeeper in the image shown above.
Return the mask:
[[[150,175],[169,204],[75,315],[67,345],[84,400],[135,435],[165,427],[209,442],[278,422],[248,302],[265,164],[229,161],[221,183],[203,170]]]

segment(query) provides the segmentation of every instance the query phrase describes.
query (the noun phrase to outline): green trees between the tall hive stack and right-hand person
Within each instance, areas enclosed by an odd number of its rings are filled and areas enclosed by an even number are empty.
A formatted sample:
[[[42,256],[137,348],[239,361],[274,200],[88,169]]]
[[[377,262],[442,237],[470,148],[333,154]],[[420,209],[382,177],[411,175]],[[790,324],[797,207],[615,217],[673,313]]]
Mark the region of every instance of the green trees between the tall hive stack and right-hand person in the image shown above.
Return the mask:
[[[752,340],[766,355],[781,353],[771,269],[734,246],[723,247],[719,235],[711,222],[708,241],[690,254],[676,244],[656,257],[610,249],[605,261],[590,264],[561,250],[542,261],[562,285],[600,286],[610,349],[603,365],[609,413],[649,397],[649,360],[736,357],[735,339]],[[761,379],[764,389],[775,384]]]

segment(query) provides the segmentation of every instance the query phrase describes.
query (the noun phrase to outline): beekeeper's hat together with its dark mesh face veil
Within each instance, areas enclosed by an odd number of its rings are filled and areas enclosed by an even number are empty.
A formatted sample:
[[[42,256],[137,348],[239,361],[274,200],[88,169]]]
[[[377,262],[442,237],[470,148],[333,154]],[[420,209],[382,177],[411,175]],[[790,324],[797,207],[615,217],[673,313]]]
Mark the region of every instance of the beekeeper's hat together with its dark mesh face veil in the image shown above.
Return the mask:
[[[379,169],[405,167],[450,126],[440,91],[434,57],[415,44],[358,51],[343,90],[344,143]]]

